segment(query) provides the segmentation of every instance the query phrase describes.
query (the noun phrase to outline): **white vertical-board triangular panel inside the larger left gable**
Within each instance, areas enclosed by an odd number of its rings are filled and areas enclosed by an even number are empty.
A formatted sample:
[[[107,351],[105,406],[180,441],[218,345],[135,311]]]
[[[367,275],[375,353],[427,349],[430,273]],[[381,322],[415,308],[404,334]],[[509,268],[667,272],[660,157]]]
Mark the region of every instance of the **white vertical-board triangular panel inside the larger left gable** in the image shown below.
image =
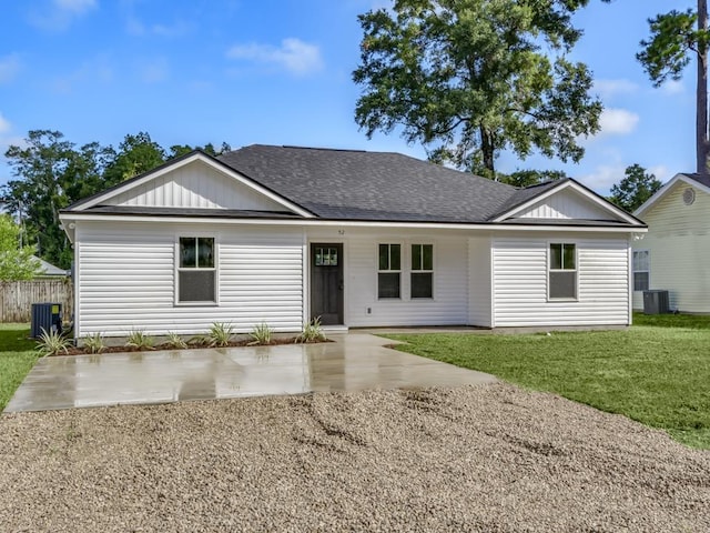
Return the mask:
[[[194,161],[134,187],[112,198],[110,203],[154,208],[285,211],[283,205],[202,161]]]

